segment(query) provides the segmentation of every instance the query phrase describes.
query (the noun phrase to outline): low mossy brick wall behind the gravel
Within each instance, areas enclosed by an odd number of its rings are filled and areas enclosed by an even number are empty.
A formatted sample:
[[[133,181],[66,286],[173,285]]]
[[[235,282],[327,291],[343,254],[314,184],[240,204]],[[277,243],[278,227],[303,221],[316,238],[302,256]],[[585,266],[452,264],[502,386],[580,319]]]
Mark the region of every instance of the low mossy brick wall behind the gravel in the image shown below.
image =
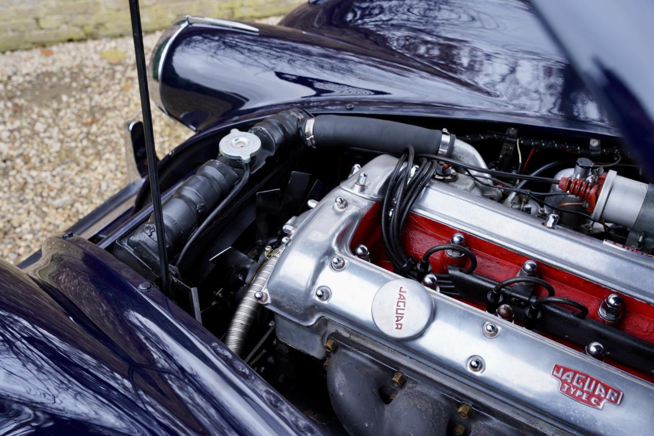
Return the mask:
[[[141,0],[144,31],[183,14],[247,20],[283,15],[305,0]],[[128,0],[0,0],[0,52],[130,33]]]

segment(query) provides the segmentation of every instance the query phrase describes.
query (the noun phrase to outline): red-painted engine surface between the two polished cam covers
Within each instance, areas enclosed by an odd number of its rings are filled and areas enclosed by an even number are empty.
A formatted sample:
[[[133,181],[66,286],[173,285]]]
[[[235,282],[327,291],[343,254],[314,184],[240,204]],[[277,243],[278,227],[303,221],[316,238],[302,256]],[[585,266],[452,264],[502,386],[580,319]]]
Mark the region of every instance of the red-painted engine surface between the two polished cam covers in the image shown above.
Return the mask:
[[[366,213],[354,234],[351,248],[353,249],[358,244],[366,245],[370,249],[370,261],[372,263],[392,270],[392,264],[388,260],[381,239],[380,211],[381,204],[378,203]],[[420,259],[430,247],[439,244],[449,244],[451,236],[456,232],[460,232],[466,236],[467,247],[477,257],[475,273],[498,282],[514,277],[520,270],[522,264],[528,259],[523,255],[487,242],[477,236],[461,232],[456,228],[413,213],[409,215],[404,228],[404,247],[407,253],[413,255],[415,259]],[[574,299],[584,304],[589,308],[589,317],[601,321],[597,315],[600,303],[609,294],[615,293],[614,291],[545,264],[539,259],[534,260],[538,262],[539,272],[543,280],[554,287],[557,297]],[[464,257],[451,259],[445,255],[444,251],[434,253],[430,257],[433,272],[447,272],[447,266],[457,262],[463,266],[468,261]],[[537,287],[537,289],[540,289],[540,292],[542,292],[540,295],[544,296],[547,294],[540,287]],[[633,297],[628,297],[627,295],[621,295],[621,297],[625,304],[625,313],[619,324],[611,328],[621,329],[647,342],[654,342],[654,306],[647,302],[636,300]],[[484,309],[480,308],[480,310]],[[542,334],[581,352],[581,348],[576,344],[572,344],[556,336],[547,335],[546,333]],[[610,365],[623,371],[644,378],[649,382],[654,382],[653,374],[632,369],[619,362],[611,361],[609,358],[606,359],[606,363],[610,363]]]

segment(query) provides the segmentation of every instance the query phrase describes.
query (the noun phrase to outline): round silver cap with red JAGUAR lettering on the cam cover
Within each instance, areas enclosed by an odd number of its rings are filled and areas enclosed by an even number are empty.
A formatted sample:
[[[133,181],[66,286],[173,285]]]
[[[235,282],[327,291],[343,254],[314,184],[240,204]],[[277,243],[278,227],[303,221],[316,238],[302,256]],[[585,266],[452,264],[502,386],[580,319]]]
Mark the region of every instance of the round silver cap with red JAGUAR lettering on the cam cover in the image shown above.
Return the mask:
[[[379,288],[372,300],[372,318],[385,335],[411,339],[432,321],[434,302],[427,290],[409,279],[392,280]]]

